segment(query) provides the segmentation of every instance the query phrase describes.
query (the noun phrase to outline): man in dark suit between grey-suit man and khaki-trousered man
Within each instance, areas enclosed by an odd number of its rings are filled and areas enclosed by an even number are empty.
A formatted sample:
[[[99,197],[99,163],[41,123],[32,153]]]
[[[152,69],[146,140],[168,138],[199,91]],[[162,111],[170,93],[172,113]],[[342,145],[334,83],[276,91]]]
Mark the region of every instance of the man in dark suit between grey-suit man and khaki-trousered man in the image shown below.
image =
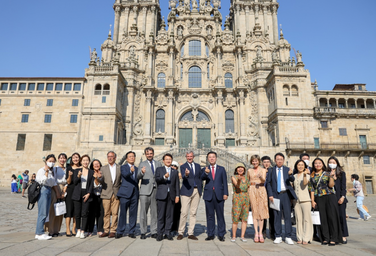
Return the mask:
[[[158,184],[155,195],[158,205],[157,241],[162,241],[163,238],[174,240],[170,231],[174,220],[174,206],[179,202],[180,195],[179,171],[171,168],[172,155],[165,154],[163,163],[164,166],[155,170],[155,182]]]

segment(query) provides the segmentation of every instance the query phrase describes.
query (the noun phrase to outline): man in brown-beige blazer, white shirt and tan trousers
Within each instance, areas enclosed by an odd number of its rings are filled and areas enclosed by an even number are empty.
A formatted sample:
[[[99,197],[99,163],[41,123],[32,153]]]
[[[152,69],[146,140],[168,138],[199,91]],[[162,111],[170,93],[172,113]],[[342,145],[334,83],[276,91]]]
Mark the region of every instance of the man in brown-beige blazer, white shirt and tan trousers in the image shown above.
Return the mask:
[[[100,198],[102,198],[103,208],[105,209],[105,215],[103,217],[103,228],[105,229],[105,232],[99,237],[114,238],[120,205],[120,201],[116,194],[120,188],[121,175],[120,166],[115,163],[116,153],[114,151],[109,151],[107,153],[107,160],[108,165],[102,166],[100,168],[100,174],[98,175],[98,181],[102,184]],[[110,229],[111,214],[112,225]]]

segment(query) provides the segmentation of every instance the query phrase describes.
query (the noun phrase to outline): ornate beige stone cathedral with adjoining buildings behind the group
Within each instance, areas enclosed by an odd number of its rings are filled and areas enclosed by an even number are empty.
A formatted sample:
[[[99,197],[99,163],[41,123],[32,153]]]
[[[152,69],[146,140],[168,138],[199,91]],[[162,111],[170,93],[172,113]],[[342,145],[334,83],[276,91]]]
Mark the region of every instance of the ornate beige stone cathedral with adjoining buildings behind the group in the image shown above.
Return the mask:
[[[84,78],[0,78],[1,185],[49,153],[106,162],[114,150],[121,162],[152,145],[179,160],[193,148],[202,165],[214,149],[229,172],[252,154],[281,151],[290,167],[303,152],[336,156],[376,193],[376,92],[318,90],[302,54],[290,55],[276,0],[232,0],[226,17],[220,0],[171,0],[167,17],[158,0],[113,7],[114,30]]]

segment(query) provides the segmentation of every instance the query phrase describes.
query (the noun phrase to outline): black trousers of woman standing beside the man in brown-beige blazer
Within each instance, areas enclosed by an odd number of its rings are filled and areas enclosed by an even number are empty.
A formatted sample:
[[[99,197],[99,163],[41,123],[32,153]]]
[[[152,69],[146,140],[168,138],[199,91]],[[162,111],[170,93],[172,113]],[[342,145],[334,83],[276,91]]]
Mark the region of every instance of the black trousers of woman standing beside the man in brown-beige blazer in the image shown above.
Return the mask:
[[[92,233],[94,225],[97,221],[97,232],[105,232],[103,229],[103,216],[105,216],[105,209],[103,209],[102,198],[97,195],[92,195],[93,201],[90,202],[89,216],[88,216],[88,230]],[[86,231],[86,230],[85,230]]]

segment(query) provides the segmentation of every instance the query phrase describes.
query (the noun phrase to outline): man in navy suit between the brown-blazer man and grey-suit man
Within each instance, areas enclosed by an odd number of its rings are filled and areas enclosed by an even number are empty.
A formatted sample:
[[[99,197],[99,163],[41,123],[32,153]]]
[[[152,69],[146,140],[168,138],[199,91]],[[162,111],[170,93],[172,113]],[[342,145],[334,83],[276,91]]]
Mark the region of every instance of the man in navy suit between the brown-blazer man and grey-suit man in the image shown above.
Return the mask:
[[[135,229],[137,221],[137,209],[138,209],[138,168],[134,166],[136,160],[136,153],[129,151],[125,154],[127,163],[120,167],[121,172],[121,185],[117,193],[117,197],[120,199],[120,214],[118,219],[118,227],[116,229],[115,238],[123,236],[125,228],[127,226],[127,211],[129,209],[129,233],[128,237],[136,238]]]

